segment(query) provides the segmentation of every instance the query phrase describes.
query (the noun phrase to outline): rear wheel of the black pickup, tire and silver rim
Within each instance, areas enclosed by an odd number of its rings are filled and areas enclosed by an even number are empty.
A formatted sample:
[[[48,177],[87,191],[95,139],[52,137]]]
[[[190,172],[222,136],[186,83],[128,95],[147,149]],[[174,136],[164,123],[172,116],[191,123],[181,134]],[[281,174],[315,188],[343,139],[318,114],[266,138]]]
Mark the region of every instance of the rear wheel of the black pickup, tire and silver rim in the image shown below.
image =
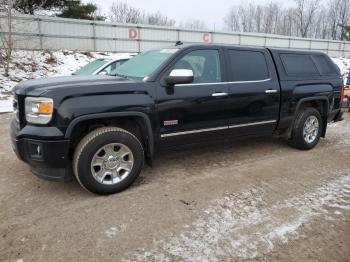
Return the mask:
[[[312,121],[314,124],[312,124]],[[317,128],[316,122],[318,124]],[[289,140],[289,144],[301,150],[314,148],[320,140],[322,126],[322,117],[317,109],[311,107],[302,109],[294,122],[292,139]]]

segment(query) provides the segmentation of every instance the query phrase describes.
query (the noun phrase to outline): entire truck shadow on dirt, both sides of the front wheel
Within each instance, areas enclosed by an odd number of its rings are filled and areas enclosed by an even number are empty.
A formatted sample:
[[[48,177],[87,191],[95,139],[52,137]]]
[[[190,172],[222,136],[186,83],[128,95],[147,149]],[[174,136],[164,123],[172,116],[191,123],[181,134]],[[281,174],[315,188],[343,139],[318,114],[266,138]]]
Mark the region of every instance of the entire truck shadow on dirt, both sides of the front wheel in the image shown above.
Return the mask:
[[[210,173],[217,168],[249,164],[293,150],[295,149],[290,148],[284,140],[276,138],[246,138],[224,143],[213,142],[161,149],[154,160],[153,167],[145,165],[133,185],[117,195],[135,193],[134,190],[139,190],[147,185],[156,185],[158,182],[171,183],[172,179],[197,176],[201,172]],[[97,196],[82,188],[75,178],[65,183],[35,180],[39,182],[38,186],[42,188],[41,191],[50,195],[61,195],[62,198],[69,196],[76,200]],[[104,196],[99,197],[105,198]]]

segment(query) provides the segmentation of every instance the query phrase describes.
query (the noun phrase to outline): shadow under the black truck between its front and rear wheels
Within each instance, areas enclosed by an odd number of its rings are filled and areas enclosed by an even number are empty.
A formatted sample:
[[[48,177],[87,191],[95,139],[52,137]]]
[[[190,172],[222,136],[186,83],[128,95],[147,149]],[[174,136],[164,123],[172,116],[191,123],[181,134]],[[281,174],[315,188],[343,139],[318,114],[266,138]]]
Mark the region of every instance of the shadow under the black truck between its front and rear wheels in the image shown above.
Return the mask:
[[[133,187],[203,171],[211,172],[219,167],[243,165],[294,150],[285,140],[276,138],[246,138],[161,149],[153,167],[146,165]]]

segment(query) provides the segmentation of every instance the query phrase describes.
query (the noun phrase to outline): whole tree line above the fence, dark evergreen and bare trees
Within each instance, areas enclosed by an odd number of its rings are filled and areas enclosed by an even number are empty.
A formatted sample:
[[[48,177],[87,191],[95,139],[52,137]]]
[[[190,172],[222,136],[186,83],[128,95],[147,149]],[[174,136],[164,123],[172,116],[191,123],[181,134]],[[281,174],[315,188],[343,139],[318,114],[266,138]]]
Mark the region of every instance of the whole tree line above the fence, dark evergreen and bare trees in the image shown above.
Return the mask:
[[[84,4],[81,0],[0,0],[0,12],[7,12],[9,6],[15,12],[32,15],[46,11],[66,18],[211,29],[200,19],[176,21],[123,0],[114,2],[107,14],[102,14],[96,4]],[[222,29],[229,31],[349,40],[350,0],[292,0],[287,4],[276,0],[266,4],[242,1],[228,8],[223,17]]]

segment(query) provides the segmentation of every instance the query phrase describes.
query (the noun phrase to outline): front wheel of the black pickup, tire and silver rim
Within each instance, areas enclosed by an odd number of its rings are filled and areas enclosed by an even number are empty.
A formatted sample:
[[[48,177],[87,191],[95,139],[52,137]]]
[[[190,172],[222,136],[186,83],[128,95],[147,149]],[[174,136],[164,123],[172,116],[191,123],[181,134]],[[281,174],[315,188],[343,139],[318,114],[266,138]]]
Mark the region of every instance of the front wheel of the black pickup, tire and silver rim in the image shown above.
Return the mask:
[[[80,141],[74,152],[73,171],[83,188],[109,195],[128,188],[140,174],[143,162],[143,146],[136,136],[121,128],[103,127]]]

